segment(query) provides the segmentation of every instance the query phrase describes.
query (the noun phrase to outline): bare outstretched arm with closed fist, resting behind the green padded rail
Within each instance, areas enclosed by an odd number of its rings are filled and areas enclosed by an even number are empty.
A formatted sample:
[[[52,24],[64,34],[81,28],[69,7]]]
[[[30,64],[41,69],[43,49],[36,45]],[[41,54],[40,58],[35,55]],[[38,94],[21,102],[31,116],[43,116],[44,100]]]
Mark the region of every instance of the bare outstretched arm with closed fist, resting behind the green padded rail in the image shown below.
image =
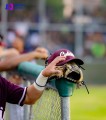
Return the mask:
[[[3,61],[0,61],[0,72],[12,70],[15,67],[17,67],[18,64],[24,61],[30,61],[30,60],[38,59],[38,58],[46,59],[47,57],[48,57],[48,53],[44,51],[43,49],[41,51],[34,50],[29,53],[20,54],[20,55],[11,57],[9,59],[4,59]]]

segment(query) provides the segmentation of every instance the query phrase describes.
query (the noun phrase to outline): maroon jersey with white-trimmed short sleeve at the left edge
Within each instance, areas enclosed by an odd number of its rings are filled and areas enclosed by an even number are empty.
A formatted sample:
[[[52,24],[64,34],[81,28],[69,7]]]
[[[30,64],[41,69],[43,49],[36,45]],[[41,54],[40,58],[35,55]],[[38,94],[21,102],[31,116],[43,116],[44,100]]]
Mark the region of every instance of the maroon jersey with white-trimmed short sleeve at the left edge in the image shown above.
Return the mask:
[[[10,83],[0,76],[0,120],[3,120],[6,102],[23,105],[26,96],[26,88]]]

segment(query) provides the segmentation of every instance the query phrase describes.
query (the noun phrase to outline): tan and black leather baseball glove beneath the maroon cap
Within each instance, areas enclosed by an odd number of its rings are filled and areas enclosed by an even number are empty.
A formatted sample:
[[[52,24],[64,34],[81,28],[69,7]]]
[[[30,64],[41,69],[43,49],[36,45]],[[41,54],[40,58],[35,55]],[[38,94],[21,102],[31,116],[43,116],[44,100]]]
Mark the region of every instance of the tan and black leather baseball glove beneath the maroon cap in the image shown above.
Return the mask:
[[[79,88],[81,85],[85,85],[89,94],[88,88],[83,81],[82,69],[84,68],[81,68],[82,67],[75,62],[68,62],[62,66],[57,66],[56,69],[60,70],[60,73],[52,75],[49,80],[66,78],[67,81],[75,83],[77,85],[77,88]]]

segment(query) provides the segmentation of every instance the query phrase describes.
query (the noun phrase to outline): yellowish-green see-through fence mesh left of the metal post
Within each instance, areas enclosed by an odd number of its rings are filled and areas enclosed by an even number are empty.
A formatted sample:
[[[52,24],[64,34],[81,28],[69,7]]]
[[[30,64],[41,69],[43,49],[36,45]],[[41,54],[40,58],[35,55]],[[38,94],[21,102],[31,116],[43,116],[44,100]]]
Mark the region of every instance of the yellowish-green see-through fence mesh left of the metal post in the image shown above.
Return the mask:
[[[47,88],[32,106],[32,120],[61,120],[60,97],[56,90]]]

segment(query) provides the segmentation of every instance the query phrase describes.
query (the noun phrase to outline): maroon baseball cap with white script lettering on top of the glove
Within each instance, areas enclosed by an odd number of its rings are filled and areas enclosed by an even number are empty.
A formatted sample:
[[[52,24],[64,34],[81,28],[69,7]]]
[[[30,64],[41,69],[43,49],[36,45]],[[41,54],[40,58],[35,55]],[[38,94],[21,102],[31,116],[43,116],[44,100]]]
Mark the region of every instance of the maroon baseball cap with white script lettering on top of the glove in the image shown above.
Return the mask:
[[[74,61],[76,64],[83,65],[84,62],[81,59],[78,59],[74,56],[74,54],[67,49],[59,49],[55,51],[49,58],[48,58],[48,64],[51,63],[56,57],[58,56],[66,56],[66,59],[64,61],[60,61],[57,63],[57,65],[64,65],[65,63],[69,61]]]

